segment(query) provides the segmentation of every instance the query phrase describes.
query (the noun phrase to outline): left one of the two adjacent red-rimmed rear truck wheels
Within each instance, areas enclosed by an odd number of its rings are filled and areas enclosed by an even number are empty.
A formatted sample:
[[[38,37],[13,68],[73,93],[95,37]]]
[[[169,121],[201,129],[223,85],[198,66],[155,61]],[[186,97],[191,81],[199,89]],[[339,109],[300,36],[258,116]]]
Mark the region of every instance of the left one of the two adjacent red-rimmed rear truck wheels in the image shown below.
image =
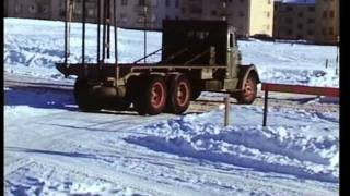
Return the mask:
[[[135,107],[139,114],[155,115],[161,113],[166,103],[166,85],[164,78],[158,75],[141,77],[138,88],[139,96],[135,99]]]

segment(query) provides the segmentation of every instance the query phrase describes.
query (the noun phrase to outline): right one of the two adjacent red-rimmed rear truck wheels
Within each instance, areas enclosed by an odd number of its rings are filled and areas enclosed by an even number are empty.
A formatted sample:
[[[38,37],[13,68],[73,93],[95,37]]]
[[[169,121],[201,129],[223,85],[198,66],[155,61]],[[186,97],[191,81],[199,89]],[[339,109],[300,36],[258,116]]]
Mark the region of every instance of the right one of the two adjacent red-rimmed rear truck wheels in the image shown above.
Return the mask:
[[[179,114],[188,109],[191,98],[190,83],[185,75],[172,76],[168,85],[166,109],[171,113]]]

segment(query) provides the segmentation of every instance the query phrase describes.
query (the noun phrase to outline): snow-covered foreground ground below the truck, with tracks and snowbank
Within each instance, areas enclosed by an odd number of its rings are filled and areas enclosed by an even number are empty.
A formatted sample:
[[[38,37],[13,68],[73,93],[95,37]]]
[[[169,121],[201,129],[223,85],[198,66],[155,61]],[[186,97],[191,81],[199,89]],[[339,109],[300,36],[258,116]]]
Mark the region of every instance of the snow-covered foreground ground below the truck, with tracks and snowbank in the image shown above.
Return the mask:
[[[272,111],[278,119],[271,120],[271,126],[264,132],[253,125],[260,123],[260,107],[235,106],[232,114],[235,125],[225,130],[219,122],[220,111],[184,117],[139,117],[133,111],[83,113],[78,111],[69,89],[30,87],[28,83],[23,86],[19,82],[5,84],[8,195],[338,194],[337,167],[330,167],[337,164],[334,159],[338,150],[338,119],[331,114],[308,117],[303,111],[290,114]],[[188,113],[205,108],[200,105],[192,103]],[[250,118],[240,114],[243,111]],[[291,118],[295,114],[305,121]],[[217,123],[208,124],[208,119]],[[307,123],[311,119],[313,122]],[[280,132],[278,121],[289,124],[290,127],[282,126],[284,132],[293,132],[298,126],[308,136],[322,139],[308,144],[312,138],[304,138],[306,146],[316,147],[299,152],[293,150],[298,145],[292,143],[259,147],[252,146],[252,142],[232,140],[252,137],[253,143],[254,138],[264,142],[259,139],[261,135],[254,133]],[[322,123],[313,130],[311,124],[315,122]],[[253,135],[244,136],[249,132]],[[221,142],[218,136],[229,140]],[[195,145],[187,143],[186,137]],[[290,149],[281,151],[278,145]]]

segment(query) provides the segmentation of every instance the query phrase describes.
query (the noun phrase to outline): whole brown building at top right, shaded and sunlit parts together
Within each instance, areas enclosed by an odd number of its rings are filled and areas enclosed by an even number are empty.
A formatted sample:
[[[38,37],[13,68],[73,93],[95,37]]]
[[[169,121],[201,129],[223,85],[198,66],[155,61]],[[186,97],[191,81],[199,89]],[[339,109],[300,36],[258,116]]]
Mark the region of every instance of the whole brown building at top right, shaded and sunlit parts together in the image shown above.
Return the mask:
[[[339,0],[275,2],[273,37],[336,44]]]

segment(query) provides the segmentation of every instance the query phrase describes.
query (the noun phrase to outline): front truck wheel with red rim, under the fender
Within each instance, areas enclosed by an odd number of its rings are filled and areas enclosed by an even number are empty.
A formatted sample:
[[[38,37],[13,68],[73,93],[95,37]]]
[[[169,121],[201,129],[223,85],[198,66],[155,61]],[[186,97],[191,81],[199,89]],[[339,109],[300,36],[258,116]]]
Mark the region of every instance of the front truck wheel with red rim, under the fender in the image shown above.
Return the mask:
[[[256,98],[256,95],[257,78],[253,74],[249,74],[243,90],[233,97],[236,98],[237,102],[241,105],[252,105]]]

